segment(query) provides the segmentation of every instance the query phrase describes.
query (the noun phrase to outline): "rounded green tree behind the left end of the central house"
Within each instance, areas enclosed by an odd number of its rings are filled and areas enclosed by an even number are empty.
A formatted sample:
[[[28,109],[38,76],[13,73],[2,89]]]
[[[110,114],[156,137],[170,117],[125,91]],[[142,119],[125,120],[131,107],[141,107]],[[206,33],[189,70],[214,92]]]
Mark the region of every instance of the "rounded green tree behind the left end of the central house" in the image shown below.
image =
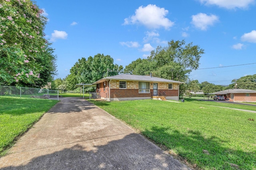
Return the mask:
[[[123,72],[123,66],[114,64],[109,55],[97,54],[94,57],[78,59],[66,77],[67,90],[74,90],[76,84],[91,84],[106,76],[113,76]]]

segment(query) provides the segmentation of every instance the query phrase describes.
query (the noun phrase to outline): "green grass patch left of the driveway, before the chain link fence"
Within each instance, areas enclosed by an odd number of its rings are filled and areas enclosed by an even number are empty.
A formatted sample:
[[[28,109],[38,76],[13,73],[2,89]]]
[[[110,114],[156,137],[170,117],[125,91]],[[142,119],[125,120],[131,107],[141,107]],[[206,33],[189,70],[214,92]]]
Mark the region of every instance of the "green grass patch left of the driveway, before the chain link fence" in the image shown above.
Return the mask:
[[[0,96],[0,156],[57,102]]]

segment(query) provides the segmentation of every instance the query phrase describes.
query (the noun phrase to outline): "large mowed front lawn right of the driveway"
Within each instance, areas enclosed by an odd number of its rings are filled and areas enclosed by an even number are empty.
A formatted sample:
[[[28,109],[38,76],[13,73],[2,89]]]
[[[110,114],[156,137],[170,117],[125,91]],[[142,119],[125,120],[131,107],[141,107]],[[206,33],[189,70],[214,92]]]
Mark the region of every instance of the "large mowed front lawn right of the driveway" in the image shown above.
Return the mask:
[[[256,113],[193,100],[94,103],[194,169],[256,169]]]

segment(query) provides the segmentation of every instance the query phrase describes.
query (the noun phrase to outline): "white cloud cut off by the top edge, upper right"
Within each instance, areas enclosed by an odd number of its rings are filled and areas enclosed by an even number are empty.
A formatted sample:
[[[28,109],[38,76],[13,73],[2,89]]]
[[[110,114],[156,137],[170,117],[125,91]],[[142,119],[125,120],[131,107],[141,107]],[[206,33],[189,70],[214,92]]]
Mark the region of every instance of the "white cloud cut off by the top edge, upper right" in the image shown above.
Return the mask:
[[[247,8],[254,0],[199,0],[202,4],[216,5],[221,8],[234,9],[234,8]]]

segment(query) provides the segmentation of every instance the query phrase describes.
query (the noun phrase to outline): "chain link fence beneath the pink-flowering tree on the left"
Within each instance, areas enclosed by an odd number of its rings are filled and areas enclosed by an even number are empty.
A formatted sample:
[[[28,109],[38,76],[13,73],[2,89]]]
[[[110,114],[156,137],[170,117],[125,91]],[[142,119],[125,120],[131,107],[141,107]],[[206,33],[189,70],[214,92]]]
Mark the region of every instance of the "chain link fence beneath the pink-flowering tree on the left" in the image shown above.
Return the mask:
[[[59,91],[40,88],[0,86],[0,96],[59,100]]]

